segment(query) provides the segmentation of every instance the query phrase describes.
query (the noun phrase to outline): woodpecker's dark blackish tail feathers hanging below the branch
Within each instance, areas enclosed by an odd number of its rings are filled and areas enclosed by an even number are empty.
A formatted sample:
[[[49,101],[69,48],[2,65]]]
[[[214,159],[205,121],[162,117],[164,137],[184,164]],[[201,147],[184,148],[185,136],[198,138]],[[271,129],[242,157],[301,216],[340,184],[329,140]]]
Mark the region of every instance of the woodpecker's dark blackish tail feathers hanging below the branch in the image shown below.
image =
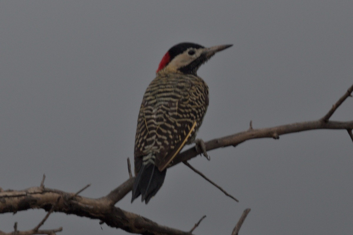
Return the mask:
[[[153,164],[142,164],[132,187],[131,203],[141,194],[141,200],[147,204],[162,187],[166,172],[167,169],[161,172]]]

